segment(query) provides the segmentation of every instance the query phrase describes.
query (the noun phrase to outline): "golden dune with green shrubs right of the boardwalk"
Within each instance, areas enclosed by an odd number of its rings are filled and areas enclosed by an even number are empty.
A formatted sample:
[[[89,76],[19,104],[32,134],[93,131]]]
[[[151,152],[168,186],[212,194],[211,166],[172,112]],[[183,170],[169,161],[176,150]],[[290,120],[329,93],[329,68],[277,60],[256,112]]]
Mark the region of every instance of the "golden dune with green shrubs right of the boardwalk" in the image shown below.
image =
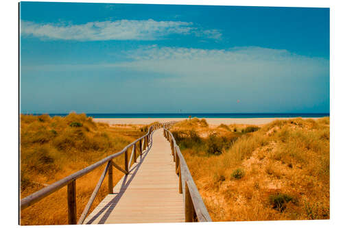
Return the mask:
[[[329,117],[171,132],[214,221],[329,219]]]

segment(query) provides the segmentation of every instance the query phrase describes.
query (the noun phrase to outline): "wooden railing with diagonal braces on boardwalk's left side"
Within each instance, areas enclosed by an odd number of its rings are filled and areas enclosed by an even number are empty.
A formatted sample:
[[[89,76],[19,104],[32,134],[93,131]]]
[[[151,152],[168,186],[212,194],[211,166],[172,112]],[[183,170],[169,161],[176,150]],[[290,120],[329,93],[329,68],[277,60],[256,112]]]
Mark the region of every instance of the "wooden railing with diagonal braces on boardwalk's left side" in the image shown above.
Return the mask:
[[[134,142],[131,142],[126,147],[124,147],[124,149],[122,149],[121,151],[114,153],[113,155],[109,155],[108,157],[105,157],[103,160],[100,160],[99,162],[96,162],[95,164],[92,164],[91,166],[87,166],[86,168],[79,170],[78,172],[73,173],[72,175],[64,177],[63,179],[60,179],[59,181],[56,181],[55,183],[51,183],[51,185],[45,188],[42,188],[41,190],[38,190],[37,192],[34,192],[34,194],[31,194],[28,197],[25,197],[24,199],[21,200],[21,203],[20,203],[21,210],[24,210],[25,208],[33,205],[34,203],[37,203],[41,199],[49,196],[49,194],[51,193],[56,192],[60,188],[67,186],[68,223],[69,224],[82,224],[84,222],[84,219],[86,218],[88,211],[91,208],[91,205],[97,195],[97,192],[99,192],[102,182],[105,179],[106,173],[108,173],[108,194],[113,194],[113,166],[119,169],[121,172],[128,175],[132,160],[133,162],[136,162],[137,155],[138,154],[142,155],[143,151],[147,149],[149,142],[151,140],[151,137],[152,137],[152,132],[163,126],[170,127],[172,124],[174,123],[164,123],[164,124],[156,123],[155,125],[150,126],[149,130],[147,131],[147,134],[135,140]],[[130,156],[130,160],[128,160],[128,149],[130,147],[132,147],[132,153]],[[124,160],[125,168],[121,168],[118,164],[113,162],[113,158],[118,157],[119,155],[122,155],[122,154],[125,156],[125,160]],[[91,195],[91,198],[89,199],[77,223],[76,180],[86,175],[87,173],[90,173],[92,170],[95,170],[95,168],[101,166],[102,164],[105,164],[106,162],[107,162],[106,168],[104,169],[104,172],[102,173],[97,183],[97,186],[95,186],[95,189]]]

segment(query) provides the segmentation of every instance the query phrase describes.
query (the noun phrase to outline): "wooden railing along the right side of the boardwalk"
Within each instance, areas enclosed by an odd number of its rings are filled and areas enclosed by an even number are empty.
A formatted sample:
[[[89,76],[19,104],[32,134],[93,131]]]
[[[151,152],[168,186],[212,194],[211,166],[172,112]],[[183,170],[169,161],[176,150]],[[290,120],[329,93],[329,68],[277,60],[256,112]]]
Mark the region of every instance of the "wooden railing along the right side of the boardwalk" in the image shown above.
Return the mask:
[[[178,191],[183,194],[185,203],[185,220],[186,222],[211,222],[209,212],[202,201],[202,198],[196,188],[191,173],[189,172],[185,158],[183,158],[178,144],[176,144],[173,134],[168,130],[173,123],[163,127],[165,138],[170,142],[171,154],[174,157],[175,170],[178,174]]]

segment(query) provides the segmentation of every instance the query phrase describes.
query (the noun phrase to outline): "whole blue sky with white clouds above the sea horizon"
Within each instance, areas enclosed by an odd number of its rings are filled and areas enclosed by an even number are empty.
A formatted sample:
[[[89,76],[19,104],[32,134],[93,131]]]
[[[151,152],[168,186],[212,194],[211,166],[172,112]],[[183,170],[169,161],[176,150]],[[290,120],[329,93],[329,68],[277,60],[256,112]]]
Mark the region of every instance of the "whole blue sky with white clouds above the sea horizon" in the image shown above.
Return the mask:
[[[328,8],[22,2],[20,17],[22,113],[329,112]]]

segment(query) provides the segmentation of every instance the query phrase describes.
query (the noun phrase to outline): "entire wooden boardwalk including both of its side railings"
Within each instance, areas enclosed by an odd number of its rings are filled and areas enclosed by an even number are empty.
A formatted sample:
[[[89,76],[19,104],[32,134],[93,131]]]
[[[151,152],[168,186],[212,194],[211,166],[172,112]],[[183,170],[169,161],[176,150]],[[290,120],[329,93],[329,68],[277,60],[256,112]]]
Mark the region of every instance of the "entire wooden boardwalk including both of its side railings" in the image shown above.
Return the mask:
[[[174,122],[152,125],[145,136],[122,151],[22,199],[21,210],[67,185],[69,224],[211,222],[185,159],[168,130],[172,125]],[[121,154],[125,155],[125,168],[112,161]],[[75,181],[106,162],[107,166],[77,221]],[[114,187],[113,167],[125,173]],[[106,174],[109,194],[88,214]]]

